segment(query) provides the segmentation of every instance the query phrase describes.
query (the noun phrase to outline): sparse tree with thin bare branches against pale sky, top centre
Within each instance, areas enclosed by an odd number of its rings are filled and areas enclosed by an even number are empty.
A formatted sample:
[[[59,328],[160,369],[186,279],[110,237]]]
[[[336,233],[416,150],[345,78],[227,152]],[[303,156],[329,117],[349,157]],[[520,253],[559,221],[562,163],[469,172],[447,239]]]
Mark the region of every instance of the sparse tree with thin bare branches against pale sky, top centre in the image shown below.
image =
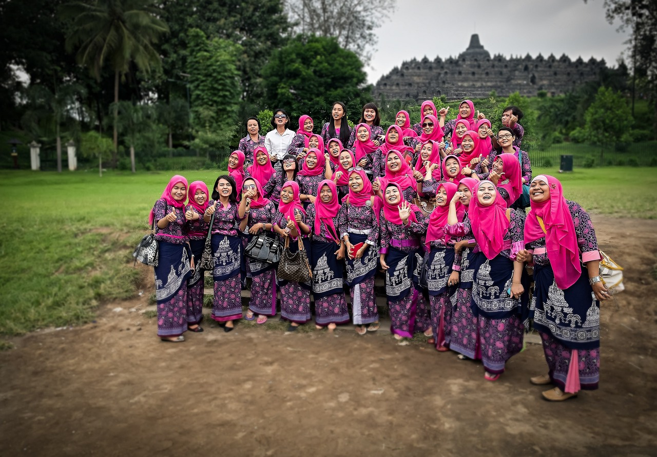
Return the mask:
[[[395,9],[394,0],[288,0],[286,10],[296,22],[296,32],[334,37],[364,62],[376,45],[374,29]]]

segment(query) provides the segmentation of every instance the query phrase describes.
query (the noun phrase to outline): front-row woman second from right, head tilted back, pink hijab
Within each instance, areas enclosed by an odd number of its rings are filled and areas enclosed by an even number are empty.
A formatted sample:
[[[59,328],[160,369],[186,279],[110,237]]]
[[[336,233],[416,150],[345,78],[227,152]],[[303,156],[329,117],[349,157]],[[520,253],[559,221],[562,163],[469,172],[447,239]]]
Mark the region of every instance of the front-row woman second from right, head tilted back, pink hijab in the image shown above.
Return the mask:
[[[522,349],[529,281],[516,254],[524,247],[524,214],[507,208],[491,181],[481,181],[468,218],[479,253],[472,287],[484,378],[496,381],[505,362]],[[450,231],[448,229],[448,231]]]

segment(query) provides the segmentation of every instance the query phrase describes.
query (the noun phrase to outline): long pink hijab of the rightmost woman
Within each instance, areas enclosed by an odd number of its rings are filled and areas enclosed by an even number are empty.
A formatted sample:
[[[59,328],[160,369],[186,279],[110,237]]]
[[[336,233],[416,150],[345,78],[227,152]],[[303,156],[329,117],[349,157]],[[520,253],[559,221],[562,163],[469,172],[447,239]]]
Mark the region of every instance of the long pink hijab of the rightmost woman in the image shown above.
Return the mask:
[[[555,272],[559,289],[568,289],[581,275],[579,246],[572,214],[564,198],[561,183],[553,176],[539,175],[533,181],[545,181],[550,189],[550,198],[542,203],[530,202],[532,209],[525,220],[525,243],[545,237],[547,258]],[[545,233],[536,217],[543,219]]]

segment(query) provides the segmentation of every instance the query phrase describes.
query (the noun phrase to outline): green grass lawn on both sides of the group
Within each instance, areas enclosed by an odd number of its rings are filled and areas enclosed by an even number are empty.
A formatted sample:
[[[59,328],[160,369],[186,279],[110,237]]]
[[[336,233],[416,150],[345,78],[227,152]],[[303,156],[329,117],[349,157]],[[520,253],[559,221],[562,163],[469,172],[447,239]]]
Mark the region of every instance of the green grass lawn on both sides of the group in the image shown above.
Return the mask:
[[[558,175],[556,168],[539,173]],[[131,253],[173,174],[1,170],[0,334],[81,324],[100,302],[133,297],[141,278]],[[218,174],[185,177],[211,186]],[[657,218],[654,169],[577,168],[558,177],[567,198],[588,210]]]

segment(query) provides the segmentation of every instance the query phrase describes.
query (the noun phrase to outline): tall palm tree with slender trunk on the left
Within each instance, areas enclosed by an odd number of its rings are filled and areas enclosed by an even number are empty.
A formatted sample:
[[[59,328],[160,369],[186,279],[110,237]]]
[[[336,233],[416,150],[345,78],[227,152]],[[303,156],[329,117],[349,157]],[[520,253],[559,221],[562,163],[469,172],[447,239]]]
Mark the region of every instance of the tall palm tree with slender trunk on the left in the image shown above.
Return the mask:
[[[109,60],[114,70],[112,162],[115,166],[119,82],[125,81],[131,62],[146,74],[160,66],[160,55],[153,45],[162,34],[169,31],[166,22],[158,18],[158,9],[152,6],[153,3],[153,0],[74,1],[63,5],[60,10],[63,18],[72,20],[66,36],[68,51],[78,47],[78,62],[89,67],[97,80],[101,79],[102,66],[106,60]]]

